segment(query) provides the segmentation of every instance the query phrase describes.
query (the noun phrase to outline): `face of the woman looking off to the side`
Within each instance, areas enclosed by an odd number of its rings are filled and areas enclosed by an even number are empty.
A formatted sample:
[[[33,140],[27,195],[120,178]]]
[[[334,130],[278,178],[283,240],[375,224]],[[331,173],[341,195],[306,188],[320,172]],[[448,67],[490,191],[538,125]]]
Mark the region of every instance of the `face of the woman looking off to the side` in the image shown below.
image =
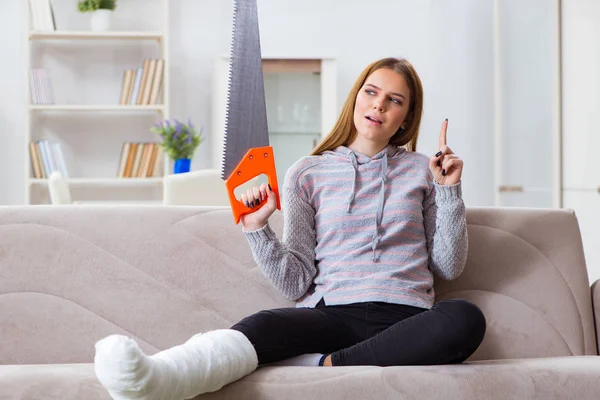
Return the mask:
[[[404,77],[380,68],[366,79],[356,96],[354,126],[362,139],[389,142],[408,114],[410,90]]]

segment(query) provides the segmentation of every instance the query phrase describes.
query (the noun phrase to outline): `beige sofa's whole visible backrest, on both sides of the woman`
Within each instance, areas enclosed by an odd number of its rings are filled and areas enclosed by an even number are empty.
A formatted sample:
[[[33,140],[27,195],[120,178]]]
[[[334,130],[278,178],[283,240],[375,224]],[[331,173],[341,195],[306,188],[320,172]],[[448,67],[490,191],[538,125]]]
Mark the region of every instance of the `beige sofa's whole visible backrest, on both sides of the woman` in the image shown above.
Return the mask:
[[[578,225],[567,211],[469,209],[463,275],[436,280],[488,320],[472,359],[596,354]],[[282,216],[271,224],[281,237]],[[91,362],[134,337],[149,354],[261,309],[291,307],[230,210],[0,207],[0,364]]]

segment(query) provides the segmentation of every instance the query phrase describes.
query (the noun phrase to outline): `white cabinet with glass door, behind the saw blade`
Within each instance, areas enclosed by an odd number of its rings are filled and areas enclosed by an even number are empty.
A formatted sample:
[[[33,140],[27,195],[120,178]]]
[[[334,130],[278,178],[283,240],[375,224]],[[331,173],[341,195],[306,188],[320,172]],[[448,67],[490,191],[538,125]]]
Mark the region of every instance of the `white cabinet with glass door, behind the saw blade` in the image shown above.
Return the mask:
[[[221,169],[229,57],[215,63],[212,129],[213,168]],[[263,80],[279,185],[287,169],[308,155],[337,118],[336,64],[333,59],[263,59]]]

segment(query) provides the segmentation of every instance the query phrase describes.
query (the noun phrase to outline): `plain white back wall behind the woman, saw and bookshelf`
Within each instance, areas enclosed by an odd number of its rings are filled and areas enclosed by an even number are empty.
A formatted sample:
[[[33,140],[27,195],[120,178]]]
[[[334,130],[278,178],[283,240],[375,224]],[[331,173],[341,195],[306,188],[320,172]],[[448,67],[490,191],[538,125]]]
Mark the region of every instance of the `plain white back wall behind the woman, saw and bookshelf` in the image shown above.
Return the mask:
[[[7,0],[0,14],[3,58],[11,60],[0,63],[0,204],[24,200],[25,4]],[[412,60],[426,92],[419,150],[435,152],[441,122],[449,118],[449,145],[466,163],[465,201],[492,204],[491,0],[259,0],[258,7],[266,56],[337,59],[338,107],[371,61]],[[229,51],[231,12],[230,1],[171,0],[172,116],[210,127],[213,60]],[[126,56],[115,54],[115,62],[119,57]],[[210,165],[209,148],[210,142],[200,146],[193,168]]]

